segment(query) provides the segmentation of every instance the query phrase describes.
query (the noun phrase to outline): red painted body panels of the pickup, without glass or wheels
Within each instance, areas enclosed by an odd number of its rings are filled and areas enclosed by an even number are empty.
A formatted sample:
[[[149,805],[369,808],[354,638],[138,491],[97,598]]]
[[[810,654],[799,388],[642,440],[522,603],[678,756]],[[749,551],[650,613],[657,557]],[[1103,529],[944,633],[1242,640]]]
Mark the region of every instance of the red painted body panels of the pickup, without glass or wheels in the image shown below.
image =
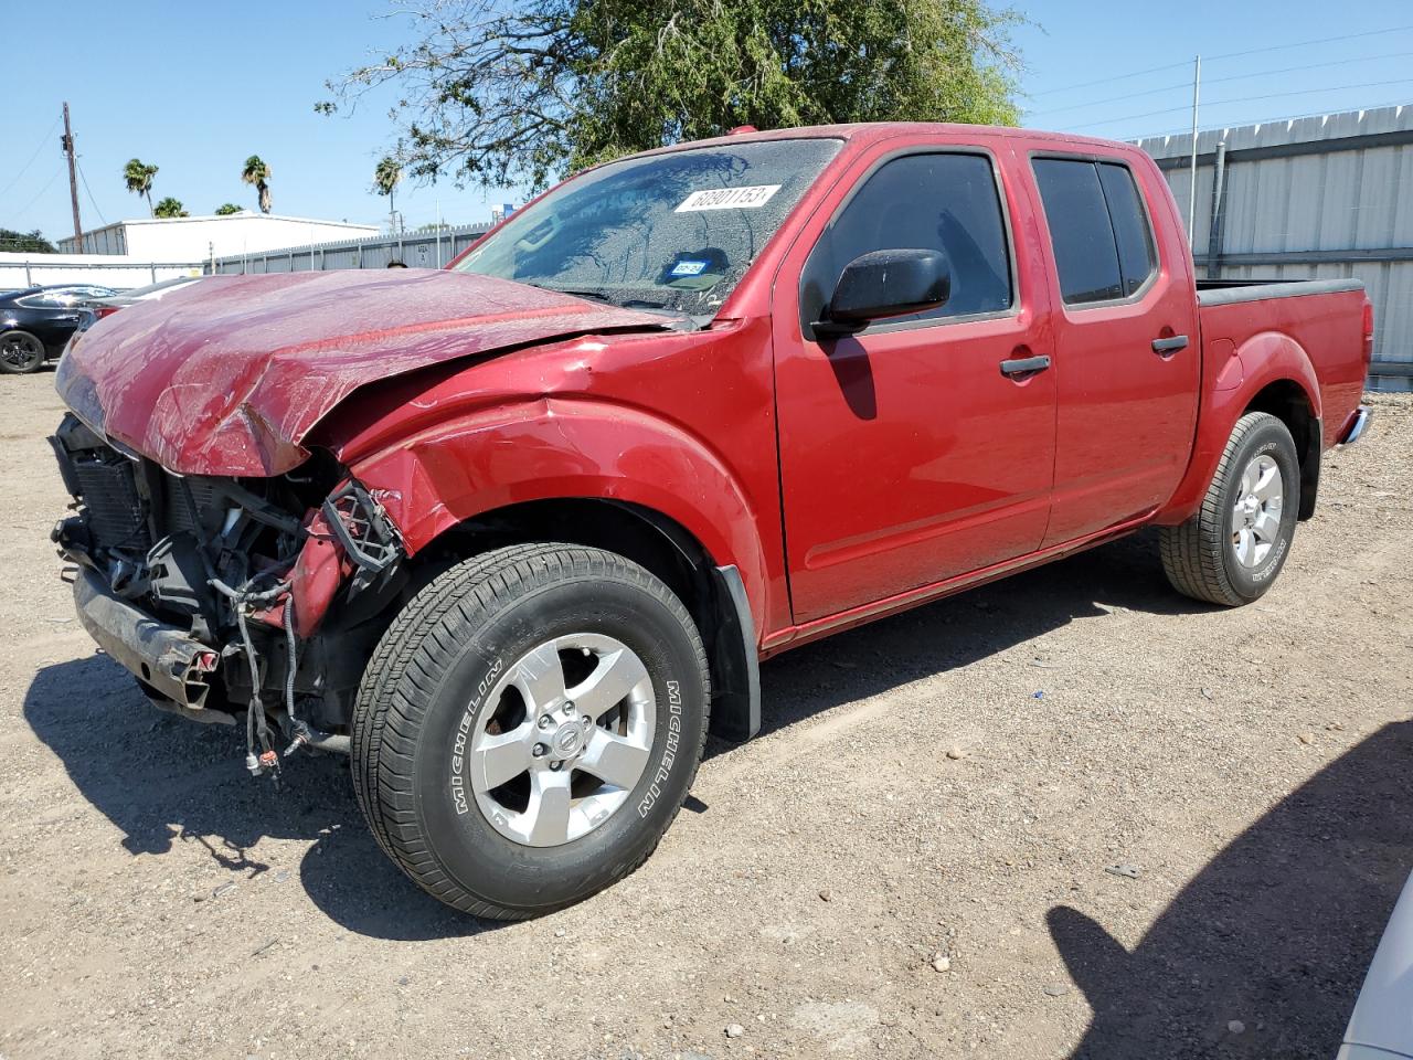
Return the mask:
[[[923,124],[716,143],[797,136],[848,143],[705,331],[465,274],[242,277],[93,328],[61,391],[175,471],[276,473],[307,441],[328,445],[414,553],[530,500],[653,509],[742,571],[767,654],[1180,522],[1269,383],[1303,387],[1327,445],[1359,400],[1364,295],[1198,310],[1181,216],[1132,147]],[[828,349],[805,341],[798,273],[835,208],[880,155],[950,146],[996,160],[1015,311]],[[1031,153],[1056,150],[1121,158],[1137,177],[1163,263],[1139,301],[1060,302],[1030,174]],[[1186,351],[1152,352],[1176,334],[1193,339]],[[1031,353],[1051,369],[1020,383],[999,373]],[[346,568],[317,551],[300,563],[305,632]]]

